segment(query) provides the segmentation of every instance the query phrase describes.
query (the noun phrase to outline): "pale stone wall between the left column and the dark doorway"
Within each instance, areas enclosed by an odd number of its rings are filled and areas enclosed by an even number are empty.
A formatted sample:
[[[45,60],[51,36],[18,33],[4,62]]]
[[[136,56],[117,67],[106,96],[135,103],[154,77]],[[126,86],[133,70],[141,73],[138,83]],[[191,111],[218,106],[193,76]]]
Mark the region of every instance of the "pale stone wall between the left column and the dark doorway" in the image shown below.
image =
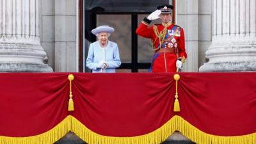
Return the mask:
[[[76,0],[41,0],[41,45],[54,72],[76,72]]]

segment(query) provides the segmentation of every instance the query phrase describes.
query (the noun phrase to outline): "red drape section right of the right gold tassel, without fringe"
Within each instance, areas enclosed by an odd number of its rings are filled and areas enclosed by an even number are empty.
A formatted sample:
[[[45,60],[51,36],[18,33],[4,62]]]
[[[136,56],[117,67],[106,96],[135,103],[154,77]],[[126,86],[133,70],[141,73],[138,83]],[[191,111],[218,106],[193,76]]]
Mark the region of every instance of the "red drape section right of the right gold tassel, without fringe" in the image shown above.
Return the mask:
[[[196,128],[218,136],[256,132],[256,73],[182,73],[179,113]]]

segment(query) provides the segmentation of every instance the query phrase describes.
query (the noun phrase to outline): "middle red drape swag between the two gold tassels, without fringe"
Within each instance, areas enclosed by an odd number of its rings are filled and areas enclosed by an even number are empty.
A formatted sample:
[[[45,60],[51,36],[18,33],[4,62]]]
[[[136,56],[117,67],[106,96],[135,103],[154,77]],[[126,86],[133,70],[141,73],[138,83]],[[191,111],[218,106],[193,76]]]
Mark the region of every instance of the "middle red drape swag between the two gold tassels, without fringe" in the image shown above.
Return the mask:
[[[138,136],[173,116],[172,74],[77,74],[73,116],[105,136]]]

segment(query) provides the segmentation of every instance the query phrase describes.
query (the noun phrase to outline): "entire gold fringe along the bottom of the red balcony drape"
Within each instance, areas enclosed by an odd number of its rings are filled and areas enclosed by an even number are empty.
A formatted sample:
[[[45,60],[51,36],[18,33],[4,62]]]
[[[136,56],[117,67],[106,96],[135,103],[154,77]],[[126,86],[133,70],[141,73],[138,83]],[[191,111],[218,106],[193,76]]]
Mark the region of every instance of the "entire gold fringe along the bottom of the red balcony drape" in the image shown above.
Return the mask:
[[[67,134],[74,132],[79,138],[89,144],[156,144],[165,141],[173,132],[179,131],[197,144],[249,144],[255,143],[256,132],[244,136],[214,136],[196,129],[180,116],[173,116],[166,124],[156,131],[141,136],[113,137],[97,134],[74,116],[67,116],[60,124],[50,131],[37,136],[13,138],[0,136],[1,144],[52,144]],[[125,129],[124,129],[125,131]]]

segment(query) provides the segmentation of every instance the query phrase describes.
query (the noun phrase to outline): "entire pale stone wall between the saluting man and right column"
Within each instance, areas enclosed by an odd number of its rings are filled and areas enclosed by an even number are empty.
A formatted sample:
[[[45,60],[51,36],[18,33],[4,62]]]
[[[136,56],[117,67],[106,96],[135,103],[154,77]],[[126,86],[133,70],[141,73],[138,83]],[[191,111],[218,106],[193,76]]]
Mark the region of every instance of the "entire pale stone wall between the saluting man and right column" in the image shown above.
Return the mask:
[[[188,60],[184,71],[198,72],[211,45],[211,0],[176,0],[177,22],[184,28]]]

